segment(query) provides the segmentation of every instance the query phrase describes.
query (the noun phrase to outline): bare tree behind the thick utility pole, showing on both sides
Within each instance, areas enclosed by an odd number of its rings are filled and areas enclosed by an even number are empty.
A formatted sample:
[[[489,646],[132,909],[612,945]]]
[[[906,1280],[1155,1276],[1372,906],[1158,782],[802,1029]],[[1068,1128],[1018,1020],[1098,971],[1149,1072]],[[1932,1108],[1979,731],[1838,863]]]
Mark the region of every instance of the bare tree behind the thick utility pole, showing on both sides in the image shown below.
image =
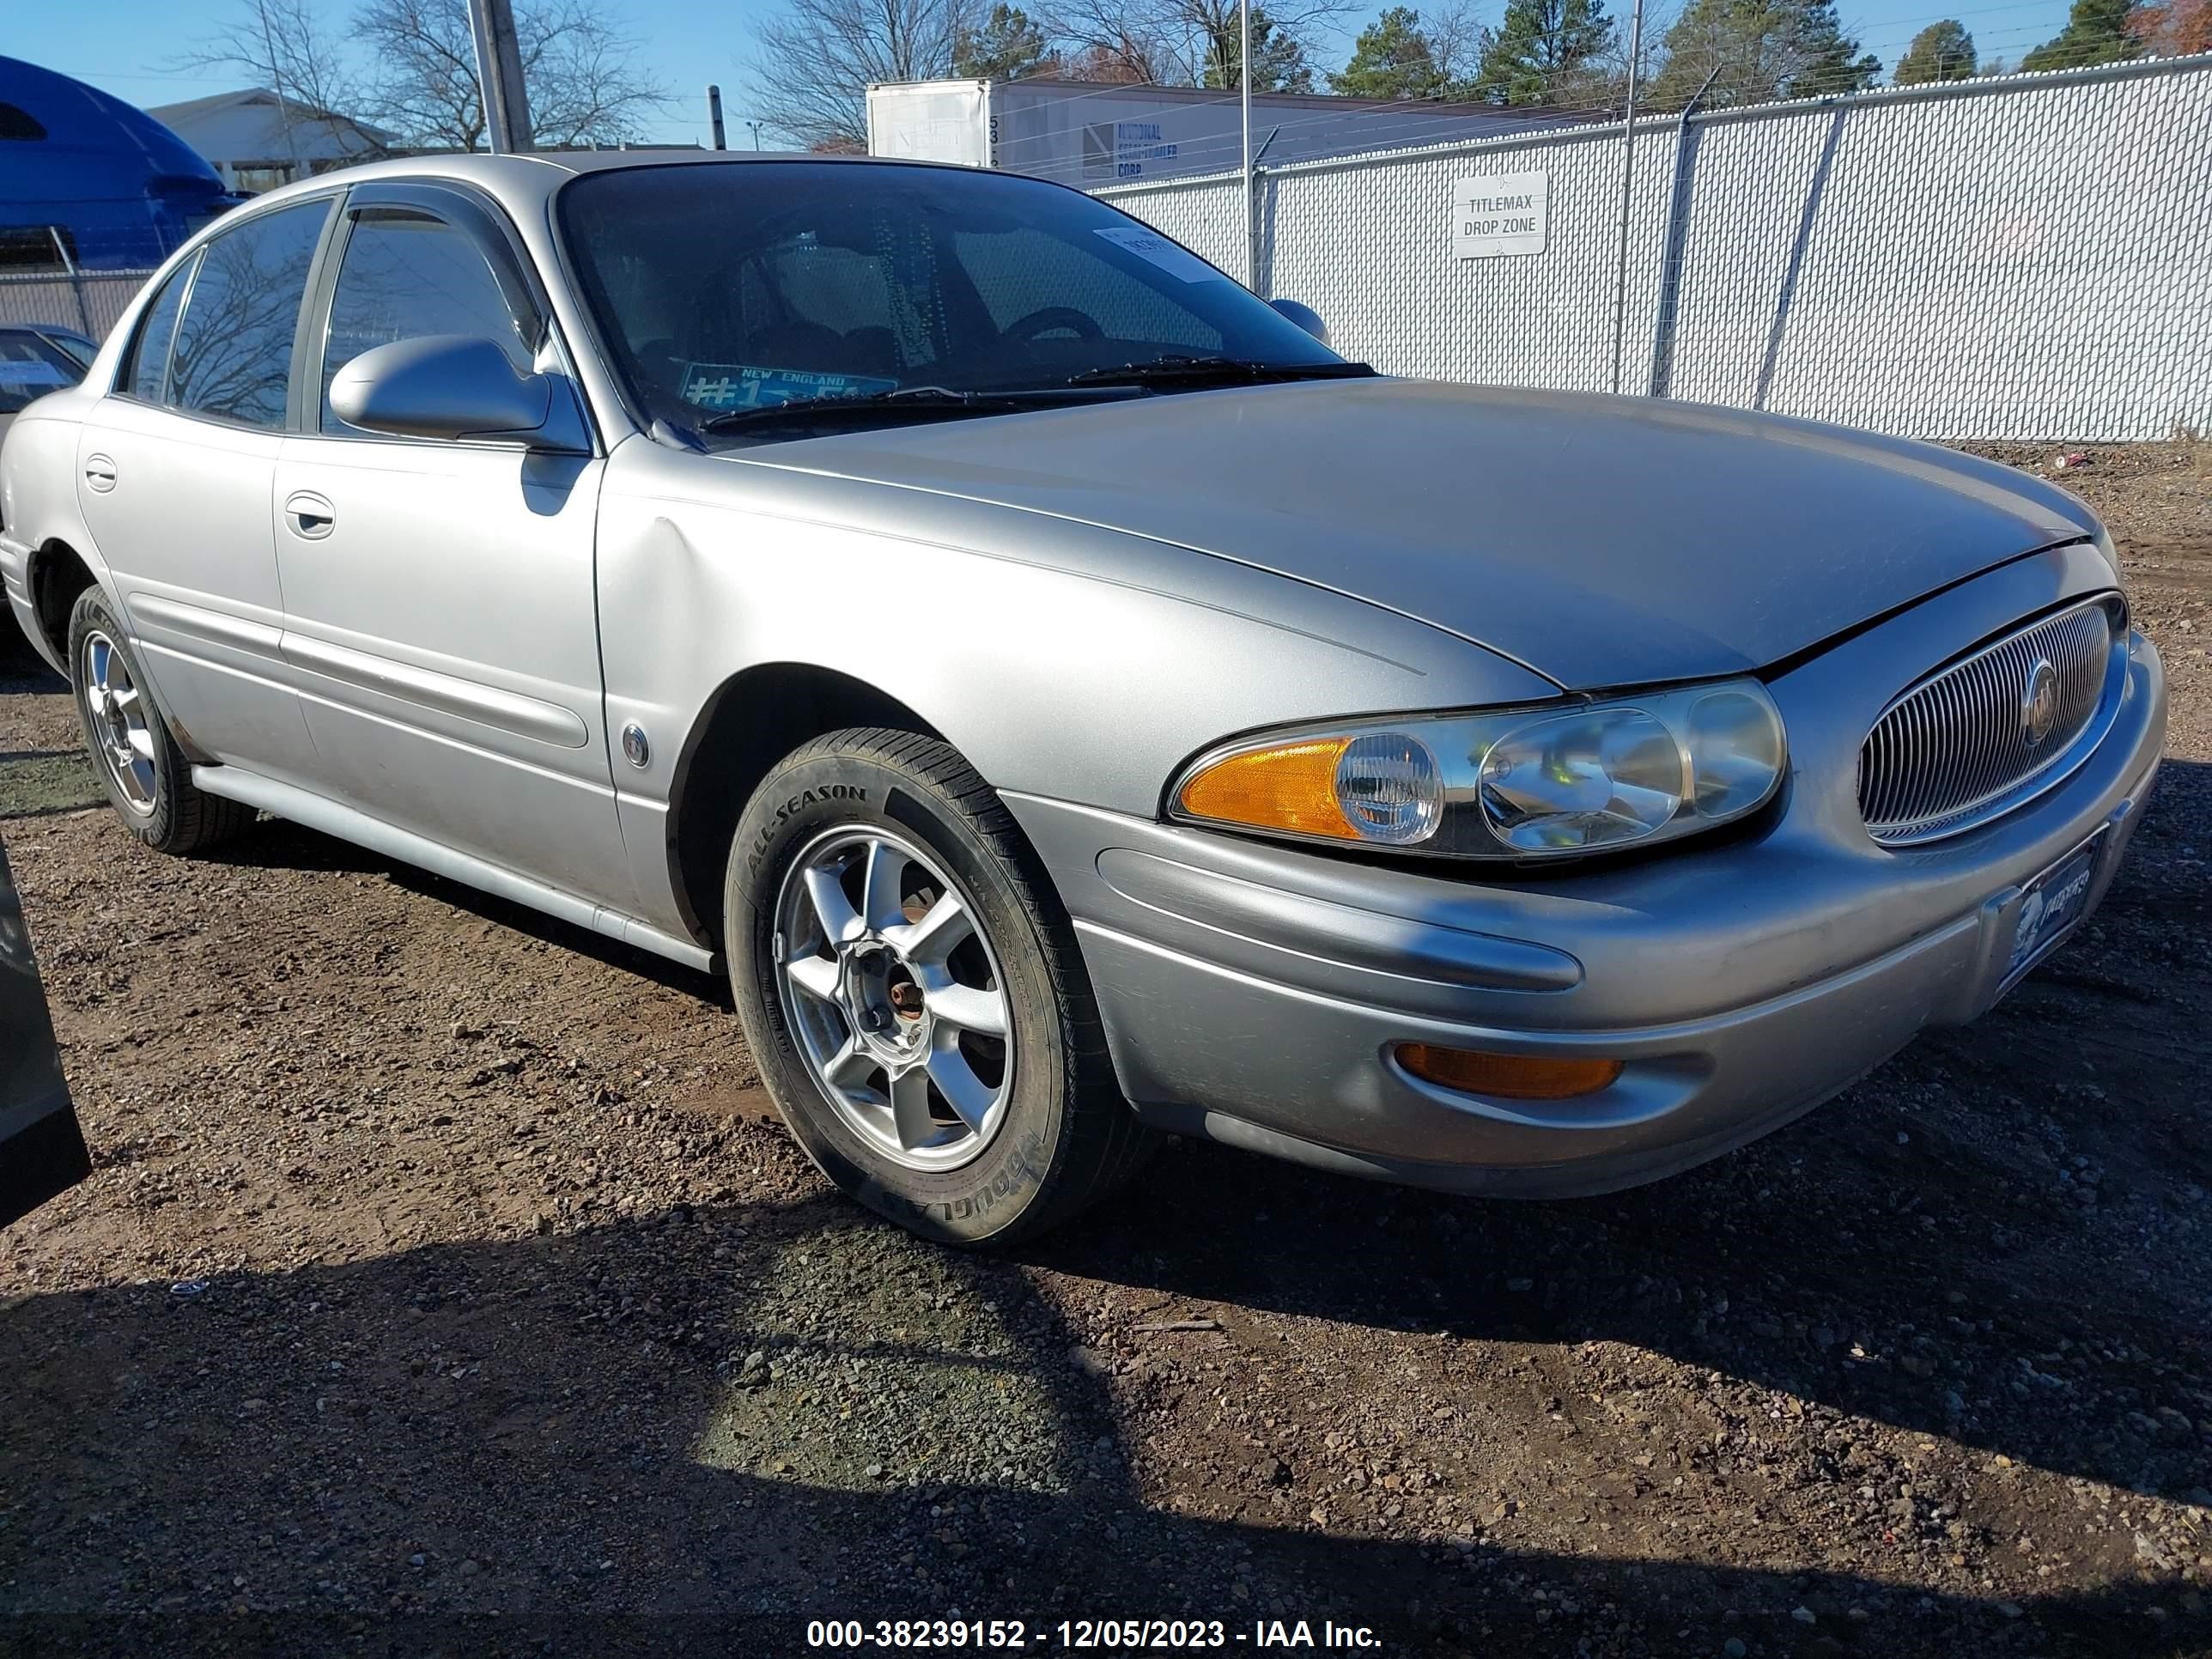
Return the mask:
[[[365,113],[425,148],[484,144],[467,0],[369,0],[354,40],[376,62]],[[622,144],[644,135],[666,88],[637,69],[635,46],[584,0],[515,7],[531,137],[542,146]]]

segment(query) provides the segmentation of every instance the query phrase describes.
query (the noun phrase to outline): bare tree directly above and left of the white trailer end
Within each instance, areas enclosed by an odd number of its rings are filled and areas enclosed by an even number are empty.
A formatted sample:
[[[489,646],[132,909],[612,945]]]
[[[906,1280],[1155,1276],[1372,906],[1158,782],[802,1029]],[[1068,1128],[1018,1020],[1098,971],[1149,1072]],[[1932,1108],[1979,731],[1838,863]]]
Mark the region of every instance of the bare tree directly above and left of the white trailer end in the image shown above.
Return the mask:
[[[867,148],[867,88],[942,80],[978,22],[975,0],[792,0],[754,24],[752,106],[812,150]]]

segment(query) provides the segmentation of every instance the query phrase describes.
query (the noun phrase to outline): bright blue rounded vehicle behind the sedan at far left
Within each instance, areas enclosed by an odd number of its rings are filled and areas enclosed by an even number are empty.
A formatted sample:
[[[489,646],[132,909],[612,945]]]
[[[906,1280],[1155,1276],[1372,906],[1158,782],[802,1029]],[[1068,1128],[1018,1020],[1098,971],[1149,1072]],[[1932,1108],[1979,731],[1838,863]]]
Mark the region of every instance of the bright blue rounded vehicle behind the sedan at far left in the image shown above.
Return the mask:
[[[0,270],[159,265],[239,199],[144,111],[0,58]]]

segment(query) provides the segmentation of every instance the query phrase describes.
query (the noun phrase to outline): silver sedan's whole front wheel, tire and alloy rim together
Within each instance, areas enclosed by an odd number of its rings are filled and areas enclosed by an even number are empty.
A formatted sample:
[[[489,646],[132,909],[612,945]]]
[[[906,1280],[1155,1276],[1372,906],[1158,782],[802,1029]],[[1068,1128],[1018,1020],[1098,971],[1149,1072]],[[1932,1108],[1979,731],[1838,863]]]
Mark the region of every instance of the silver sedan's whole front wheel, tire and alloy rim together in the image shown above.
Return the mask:
[[[737,825],[723,898],[761,1077],[860,1203],[1009,1243],[1144,1161],[1073,927],[949,745],[847,730],[790,754]]]

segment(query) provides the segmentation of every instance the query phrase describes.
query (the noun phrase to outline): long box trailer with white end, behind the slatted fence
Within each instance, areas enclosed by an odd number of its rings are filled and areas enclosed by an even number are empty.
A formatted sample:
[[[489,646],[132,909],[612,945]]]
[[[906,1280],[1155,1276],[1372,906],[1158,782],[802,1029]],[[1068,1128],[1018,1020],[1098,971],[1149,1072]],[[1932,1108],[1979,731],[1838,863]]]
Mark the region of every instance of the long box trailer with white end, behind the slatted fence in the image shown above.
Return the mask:
[[[1287,166],[1577,119],[1495,104],[1254,93],[1252,148],[1265,166]],[[1033,75],[867,88],[869,155],[1029,173],[1084,190],[1237,168],[1243,164],[1241,122],[1237,93],[1208,86],[1113,86]]]

